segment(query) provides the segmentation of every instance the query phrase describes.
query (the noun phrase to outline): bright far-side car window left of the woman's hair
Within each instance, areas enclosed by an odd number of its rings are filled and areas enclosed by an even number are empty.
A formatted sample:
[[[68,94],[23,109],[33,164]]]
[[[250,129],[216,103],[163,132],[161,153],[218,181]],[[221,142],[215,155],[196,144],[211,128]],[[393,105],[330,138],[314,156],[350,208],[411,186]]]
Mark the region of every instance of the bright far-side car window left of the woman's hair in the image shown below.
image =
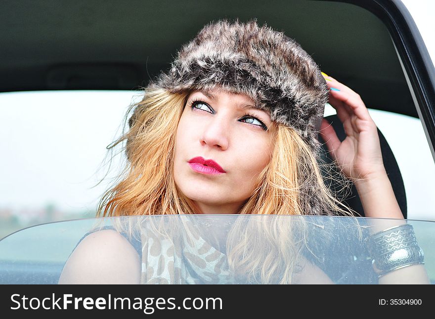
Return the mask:
[[[48,221],[94,217],[119,171],[104,165],[133,91],[0,94],[0,237]],[[106,169],[107,168],[107,169]],[[108,173],[105,182],[96,185]]]

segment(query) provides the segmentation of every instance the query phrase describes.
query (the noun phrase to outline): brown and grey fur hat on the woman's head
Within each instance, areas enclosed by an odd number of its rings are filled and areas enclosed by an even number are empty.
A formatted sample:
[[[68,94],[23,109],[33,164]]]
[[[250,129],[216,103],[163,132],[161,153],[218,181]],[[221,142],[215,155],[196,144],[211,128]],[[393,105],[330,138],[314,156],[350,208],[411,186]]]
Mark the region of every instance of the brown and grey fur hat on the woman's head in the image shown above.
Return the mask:
[[[314,60],[294,40],[255,20],[206,25],[151,85],[170,92],[216,87],[243,93],[271,120],[290,126],[315,153],[328,88]]]

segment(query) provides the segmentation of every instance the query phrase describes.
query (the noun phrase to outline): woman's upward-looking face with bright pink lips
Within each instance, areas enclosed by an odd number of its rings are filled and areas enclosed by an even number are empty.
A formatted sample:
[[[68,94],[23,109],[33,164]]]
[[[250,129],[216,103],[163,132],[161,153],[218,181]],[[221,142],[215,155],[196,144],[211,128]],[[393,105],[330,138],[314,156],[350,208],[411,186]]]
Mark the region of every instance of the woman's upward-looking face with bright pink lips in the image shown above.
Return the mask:
[[[238,211],[270,161],[270,116],[254,105],[248,96],[220,90],[187,98],[176,132],[174,179],[203,213],[206,206]]]

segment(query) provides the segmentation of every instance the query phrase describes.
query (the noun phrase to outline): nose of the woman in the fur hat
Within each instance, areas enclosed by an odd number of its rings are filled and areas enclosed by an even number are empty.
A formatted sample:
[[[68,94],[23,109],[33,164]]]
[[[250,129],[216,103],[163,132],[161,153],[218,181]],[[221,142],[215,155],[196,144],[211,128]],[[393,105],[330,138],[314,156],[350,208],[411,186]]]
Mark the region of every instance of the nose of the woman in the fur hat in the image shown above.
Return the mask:
[[[216,116],[204,123],[201,145],[225,151],[229,144],[229,134],[230,129],[227,120]]]

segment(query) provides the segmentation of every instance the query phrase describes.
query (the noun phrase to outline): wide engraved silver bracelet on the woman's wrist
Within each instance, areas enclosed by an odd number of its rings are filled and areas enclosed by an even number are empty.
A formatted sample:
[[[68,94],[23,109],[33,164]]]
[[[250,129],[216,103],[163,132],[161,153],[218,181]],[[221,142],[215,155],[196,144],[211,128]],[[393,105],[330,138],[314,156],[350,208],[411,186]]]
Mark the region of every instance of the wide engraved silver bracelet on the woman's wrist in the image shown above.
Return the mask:
[[[366,239],[366,244],[378,277],[410,265],[424,264],[424,253],[412,225],[400,225],[376,233]]]

